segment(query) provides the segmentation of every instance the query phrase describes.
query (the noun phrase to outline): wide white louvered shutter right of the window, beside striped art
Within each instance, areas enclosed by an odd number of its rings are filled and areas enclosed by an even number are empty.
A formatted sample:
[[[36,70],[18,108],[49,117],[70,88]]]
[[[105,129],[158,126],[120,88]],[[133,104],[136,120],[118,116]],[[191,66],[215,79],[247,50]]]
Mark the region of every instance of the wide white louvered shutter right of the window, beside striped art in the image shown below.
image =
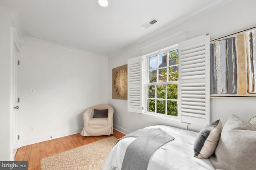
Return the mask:
[[[210,124],[210,35],[179,43],[178,114],[181,121]]]

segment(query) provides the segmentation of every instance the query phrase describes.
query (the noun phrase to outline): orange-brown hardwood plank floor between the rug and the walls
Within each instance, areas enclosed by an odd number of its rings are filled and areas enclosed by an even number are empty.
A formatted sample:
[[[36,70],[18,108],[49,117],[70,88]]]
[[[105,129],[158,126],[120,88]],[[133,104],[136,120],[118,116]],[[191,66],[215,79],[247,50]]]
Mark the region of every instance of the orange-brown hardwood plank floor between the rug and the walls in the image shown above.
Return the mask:
[[[80,135],[80,133],[78,133],[75,135],[61,137],[58,139],[52,139],[50,141],[35,143],[32,145],[20,147],[17,150],[17,153],[15,155],[15,160],[17,161],[27,160],[28,170],[40,170],[41,158],[45,158],[53,154],[64,152],[65,150],[80,147],[82,145],[99,141],[101,139],[105,139],[111,136],[114,136],[117,139],[119,139],[123,137],[124,134],[114,130],[114,134],[110,136],[83,137],[82,135]]]

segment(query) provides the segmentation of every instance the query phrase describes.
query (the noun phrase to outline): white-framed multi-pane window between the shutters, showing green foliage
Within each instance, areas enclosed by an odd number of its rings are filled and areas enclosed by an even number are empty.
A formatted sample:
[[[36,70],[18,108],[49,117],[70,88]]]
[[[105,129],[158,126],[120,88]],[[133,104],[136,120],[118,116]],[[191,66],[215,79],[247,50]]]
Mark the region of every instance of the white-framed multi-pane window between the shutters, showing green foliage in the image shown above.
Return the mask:
[[[178,45],[147,55],[146,113],[178,116]]]

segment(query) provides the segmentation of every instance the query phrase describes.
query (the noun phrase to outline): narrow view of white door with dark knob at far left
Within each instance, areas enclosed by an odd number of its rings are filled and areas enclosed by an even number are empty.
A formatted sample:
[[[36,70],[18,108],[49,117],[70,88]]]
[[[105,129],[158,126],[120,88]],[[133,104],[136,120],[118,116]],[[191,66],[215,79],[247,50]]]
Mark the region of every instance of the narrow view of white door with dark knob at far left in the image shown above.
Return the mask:
[[[14,156],[19,148],[18,140],[19,140],[19,102],[20,102],[20,46],[18,43],[18,35],[16,34],[15,29],[12,31],[12,92],[11,92],[11,100],[12,100],[12,115],[10,119],[11,126],[11,160],[14,160]]]

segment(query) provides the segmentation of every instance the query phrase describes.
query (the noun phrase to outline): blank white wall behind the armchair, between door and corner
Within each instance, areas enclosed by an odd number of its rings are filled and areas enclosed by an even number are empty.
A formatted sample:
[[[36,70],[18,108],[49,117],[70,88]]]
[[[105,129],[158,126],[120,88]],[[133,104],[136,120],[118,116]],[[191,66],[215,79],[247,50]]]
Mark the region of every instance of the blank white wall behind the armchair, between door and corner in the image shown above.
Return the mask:
[[[84,110],[108,103],[108,58],[33,39],[21,46],[20,146],[80,133]]]

